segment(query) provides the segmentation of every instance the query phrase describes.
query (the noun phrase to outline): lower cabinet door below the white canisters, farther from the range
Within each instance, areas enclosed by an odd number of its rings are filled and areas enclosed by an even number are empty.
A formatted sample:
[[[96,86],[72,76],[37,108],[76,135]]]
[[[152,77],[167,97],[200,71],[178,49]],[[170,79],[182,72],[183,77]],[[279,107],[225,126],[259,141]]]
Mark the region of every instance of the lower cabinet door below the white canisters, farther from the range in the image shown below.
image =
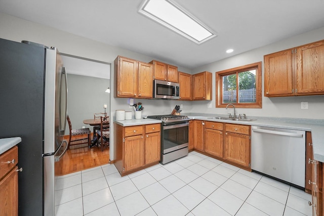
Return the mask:
[[[144,165],[144,139],[142,135],[126,137],[124,142],[125,171],[134,170]]]

